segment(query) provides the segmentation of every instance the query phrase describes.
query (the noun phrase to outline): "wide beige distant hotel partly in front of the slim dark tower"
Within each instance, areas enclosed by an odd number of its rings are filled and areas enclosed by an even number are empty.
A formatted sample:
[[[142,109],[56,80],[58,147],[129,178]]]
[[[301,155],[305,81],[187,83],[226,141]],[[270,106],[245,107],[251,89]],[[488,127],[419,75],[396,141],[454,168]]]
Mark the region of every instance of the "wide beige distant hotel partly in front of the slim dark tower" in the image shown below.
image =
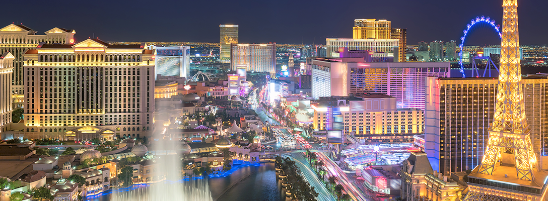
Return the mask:
[[[247,67],[247,71],[276,73],[276,43],[232,44],[230,67]]]

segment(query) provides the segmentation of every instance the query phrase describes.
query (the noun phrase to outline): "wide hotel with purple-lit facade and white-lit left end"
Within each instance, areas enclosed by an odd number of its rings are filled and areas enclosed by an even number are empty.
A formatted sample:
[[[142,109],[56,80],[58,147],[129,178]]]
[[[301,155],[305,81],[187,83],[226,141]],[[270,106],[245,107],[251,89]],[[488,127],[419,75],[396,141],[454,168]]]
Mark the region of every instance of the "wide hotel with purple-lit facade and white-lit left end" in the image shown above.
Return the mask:
[[[396,97],[397,108],[424,109],[425,78],[448,77],[445,62],[357,62],[356,58],[315,58],[312,98],[384,93]]]

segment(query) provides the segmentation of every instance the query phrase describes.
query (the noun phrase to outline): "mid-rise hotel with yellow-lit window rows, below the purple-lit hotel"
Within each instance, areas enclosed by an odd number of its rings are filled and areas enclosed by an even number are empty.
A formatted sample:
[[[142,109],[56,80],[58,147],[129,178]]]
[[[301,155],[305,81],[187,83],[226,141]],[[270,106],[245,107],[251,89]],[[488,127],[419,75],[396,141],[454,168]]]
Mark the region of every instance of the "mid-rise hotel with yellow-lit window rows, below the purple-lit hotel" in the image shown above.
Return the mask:
[[[354,134],[361,143],[412,143],[413,135],[423,132],[423,111],[397,109],[396,98],[382,93],[320,97],[310,105],[314,129],[334,129],[333,114],[338,112],[345,134]]]

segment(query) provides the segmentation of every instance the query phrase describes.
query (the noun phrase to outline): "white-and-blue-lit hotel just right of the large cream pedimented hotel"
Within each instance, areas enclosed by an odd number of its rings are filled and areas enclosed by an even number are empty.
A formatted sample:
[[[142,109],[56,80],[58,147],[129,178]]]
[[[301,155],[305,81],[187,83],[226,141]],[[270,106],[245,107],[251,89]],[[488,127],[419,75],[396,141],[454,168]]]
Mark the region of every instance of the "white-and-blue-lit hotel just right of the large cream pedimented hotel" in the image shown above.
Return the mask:
[[[158,75],[190,80],[190,46],[157,46],[155,80]]]

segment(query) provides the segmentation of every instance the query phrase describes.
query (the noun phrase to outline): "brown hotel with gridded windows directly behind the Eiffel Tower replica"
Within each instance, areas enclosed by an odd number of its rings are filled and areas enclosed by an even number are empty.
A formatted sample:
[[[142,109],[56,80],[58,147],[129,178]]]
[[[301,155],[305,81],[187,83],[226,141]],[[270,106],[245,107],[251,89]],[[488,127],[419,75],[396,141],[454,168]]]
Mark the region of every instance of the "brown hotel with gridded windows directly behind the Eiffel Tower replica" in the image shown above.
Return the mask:
[[[434,170],[449,174],[473,169],[487,146],[498,79],[426,78],[426,153]],[[548,78],[522,80],[527,122],[536,157],[548,155]],[[543,167],[543,169],[548,167]]]

